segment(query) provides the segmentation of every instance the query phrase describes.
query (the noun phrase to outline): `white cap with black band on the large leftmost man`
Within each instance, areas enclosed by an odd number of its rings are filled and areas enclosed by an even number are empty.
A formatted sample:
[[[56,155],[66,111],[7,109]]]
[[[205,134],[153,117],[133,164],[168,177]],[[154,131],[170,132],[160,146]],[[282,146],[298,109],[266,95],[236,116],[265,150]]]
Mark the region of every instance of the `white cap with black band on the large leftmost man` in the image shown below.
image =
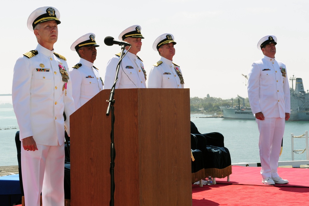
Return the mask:
[[[34,27],[37,24],[46,22],[46,21],[56,21],[57,24],[60,24],[60,13],[58,9],[51,6],[39,7],[28,17],[27,26],[30,31],[34,31]]]

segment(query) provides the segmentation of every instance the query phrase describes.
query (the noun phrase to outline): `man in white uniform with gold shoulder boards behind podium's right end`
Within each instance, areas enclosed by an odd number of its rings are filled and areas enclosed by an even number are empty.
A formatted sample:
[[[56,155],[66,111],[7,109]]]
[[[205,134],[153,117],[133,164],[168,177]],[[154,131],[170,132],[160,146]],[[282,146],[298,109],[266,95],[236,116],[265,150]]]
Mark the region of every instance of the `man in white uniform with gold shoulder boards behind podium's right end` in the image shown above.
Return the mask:
[[[149,72],[148,88],[184,88],[184,78],[180,67],[173,63],[175,55],[174,36],[170,33],[160,35],[152,45],[161,56]]]

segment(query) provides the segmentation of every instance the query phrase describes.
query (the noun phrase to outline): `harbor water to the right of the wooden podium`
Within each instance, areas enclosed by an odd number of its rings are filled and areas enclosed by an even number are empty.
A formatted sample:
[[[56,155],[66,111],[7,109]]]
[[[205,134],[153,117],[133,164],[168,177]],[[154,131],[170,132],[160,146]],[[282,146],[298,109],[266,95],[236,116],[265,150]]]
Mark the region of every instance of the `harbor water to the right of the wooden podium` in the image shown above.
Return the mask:
[[[231,153],[232,164],[259,163],[259,131],[255,120],[224,118],[203,118],[207,115],[191,114],[191,121],[200,133],[220,132],[224,136],[224,146]],[[309,121],[286,121],[283,150],[279,161],[291,161],[291,133],[299,136],[309,130]],[[306,149],[305,138],[294,138],[294,150]],[[306,160],[306,152],[294,154],[294,160]]]

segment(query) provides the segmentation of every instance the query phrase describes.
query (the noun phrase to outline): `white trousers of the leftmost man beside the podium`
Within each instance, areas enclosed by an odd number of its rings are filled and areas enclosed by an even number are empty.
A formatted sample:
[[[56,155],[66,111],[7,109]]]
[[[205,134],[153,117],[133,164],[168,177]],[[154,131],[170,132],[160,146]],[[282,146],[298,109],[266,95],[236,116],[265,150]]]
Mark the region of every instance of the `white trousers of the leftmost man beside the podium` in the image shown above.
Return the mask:
[[[64,206],[64,144],[36,145],[38,150],[21,150],[25,206]]]

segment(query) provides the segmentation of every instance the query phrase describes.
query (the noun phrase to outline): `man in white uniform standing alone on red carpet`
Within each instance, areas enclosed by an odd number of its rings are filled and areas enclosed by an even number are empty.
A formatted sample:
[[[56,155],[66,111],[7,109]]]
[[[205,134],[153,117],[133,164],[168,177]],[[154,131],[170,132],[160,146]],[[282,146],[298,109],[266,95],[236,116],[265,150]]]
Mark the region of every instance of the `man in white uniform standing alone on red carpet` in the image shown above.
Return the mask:
[[[290,118],[290,87],[286,65],[275,59],[277,38],[260,39],[257,48],[264,58],[252,64],[248,77],[248,97],[260,132],[259,149],[262,182],[288,183],[277,173],[285,121]]]

